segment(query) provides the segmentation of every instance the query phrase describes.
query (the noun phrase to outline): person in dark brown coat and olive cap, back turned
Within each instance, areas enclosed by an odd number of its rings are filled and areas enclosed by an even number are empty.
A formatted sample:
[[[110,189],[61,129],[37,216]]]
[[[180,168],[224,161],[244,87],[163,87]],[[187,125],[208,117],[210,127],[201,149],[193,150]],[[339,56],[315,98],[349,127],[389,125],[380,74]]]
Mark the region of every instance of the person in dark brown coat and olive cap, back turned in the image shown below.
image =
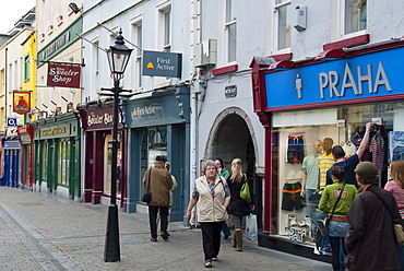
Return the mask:
[[[395,199],[376,185],[378,168],[372,163],[358,164],[355,173],[360,188],[347,213],[346,268],[350,271],[400,271],[393,223],[404,223]]]

